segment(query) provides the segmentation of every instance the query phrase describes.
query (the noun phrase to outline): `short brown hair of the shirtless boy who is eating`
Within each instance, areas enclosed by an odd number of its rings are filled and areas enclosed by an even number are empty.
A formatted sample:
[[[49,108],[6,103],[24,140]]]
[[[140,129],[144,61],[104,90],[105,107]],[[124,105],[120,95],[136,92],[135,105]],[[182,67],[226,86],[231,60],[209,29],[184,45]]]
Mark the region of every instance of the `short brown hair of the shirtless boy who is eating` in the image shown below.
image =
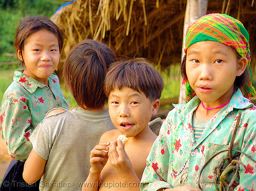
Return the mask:
[[[163,79],[146,59],[134,58],[111,64],[105,78],[104,90],[109,97],[115,88],[129,87],[143,92],[151,101],[160,99],[163,90]]]

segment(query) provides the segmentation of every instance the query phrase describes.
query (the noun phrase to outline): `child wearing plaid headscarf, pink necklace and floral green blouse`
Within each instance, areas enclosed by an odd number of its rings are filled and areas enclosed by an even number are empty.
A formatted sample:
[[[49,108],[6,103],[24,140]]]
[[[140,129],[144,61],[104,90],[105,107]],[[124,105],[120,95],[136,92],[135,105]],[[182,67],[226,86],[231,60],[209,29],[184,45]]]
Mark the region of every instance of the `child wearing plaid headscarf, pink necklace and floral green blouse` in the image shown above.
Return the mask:
[[[249,100],[255,89],[248,41],[242,23],[225,14],[205,15],[187,29],[181,64],[187,103],[175,105],[168,113],[147,157],[141,190],[210,191],[216,190],[216,182],[219,190],[215,168],[228,156],[237,123],[233,154],[244,152],[256,159],[256,107]],[[232,176],[235,179],[232,185],[222,184],[225,190],[256,189],[255,163],[245,154],[239,158],[244,165],[237,161],[240,178],[234,172],[227,174],[228,181]]]

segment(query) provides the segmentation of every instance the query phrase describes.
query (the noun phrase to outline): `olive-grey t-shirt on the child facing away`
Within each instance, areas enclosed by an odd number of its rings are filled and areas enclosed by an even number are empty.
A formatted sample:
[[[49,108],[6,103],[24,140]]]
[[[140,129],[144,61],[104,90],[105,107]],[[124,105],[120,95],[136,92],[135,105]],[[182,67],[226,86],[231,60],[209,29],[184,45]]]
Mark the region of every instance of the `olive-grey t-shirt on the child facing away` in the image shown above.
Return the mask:
[[[91,168],[91,150],[112,129],[108,110],[77,108],[45,117],[29,137],[34,151],[47,160],[39,189],[81,190]]]

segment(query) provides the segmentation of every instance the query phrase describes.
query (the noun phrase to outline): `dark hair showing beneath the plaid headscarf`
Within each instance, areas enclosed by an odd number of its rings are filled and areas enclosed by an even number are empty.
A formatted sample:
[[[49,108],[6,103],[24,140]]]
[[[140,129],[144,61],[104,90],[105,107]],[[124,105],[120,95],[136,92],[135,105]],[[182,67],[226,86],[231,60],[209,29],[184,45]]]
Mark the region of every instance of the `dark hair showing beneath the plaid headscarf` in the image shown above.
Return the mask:
[[[228,46],[228,47],[230,47],[230,46]],[[234,54],[236,54],[237,60],[242,58],[233,47],[230,47],[230,49],[232,49],[234,51]],[[181,70],[182,78],[187,80],[186,55],[182,59],[180,70]],[[234,88],[245,88],[246,86],[248,86],[249,80],[250,80],[250,73],[249,73],[248,67],[246,67],[244,73],[241,76],[237,76],[236,79],[234,80]]]

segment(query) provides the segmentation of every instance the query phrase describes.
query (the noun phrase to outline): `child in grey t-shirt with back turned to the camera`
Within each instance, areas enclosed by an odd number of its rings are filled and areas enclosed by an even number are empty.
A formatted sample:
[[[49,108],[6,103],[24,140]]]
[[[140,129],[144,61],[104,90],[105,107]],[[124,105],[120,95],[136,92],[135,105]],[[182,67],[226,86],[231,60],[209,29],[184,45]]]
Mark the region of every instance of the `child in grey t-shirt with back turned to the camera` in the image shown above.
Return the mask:
[[[91,167],[90,151],[104,132],[115,129],[104,107],[103,89],[115,59],[114,52],[96,40],[83,40],[70,51],[63,78],[79,107],[53,109],[37,126],[23,172],[28,183],[41,178],[40,190],[81,189]],[[63,184],[55,187],[58,182]]]

